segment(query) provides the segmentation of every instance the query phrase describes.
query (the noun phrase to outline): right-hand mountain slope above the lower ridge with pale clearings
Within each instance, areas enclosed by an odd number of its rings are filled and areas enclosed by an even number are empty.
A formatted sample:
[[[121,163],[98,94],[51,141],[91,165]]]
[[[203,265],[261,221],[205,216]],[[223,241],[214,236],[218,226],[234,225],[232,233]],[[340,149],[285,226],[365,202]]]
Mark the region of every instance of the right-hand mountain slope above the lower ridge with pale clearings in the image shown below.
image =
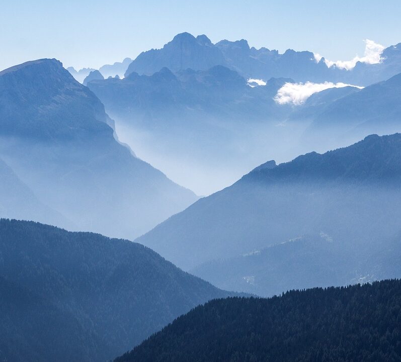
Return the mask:
[[[371,250],[399,231],[400,159],[401,134],[372,135],[256,169],[138,241],[185,269],[308,233]]]

